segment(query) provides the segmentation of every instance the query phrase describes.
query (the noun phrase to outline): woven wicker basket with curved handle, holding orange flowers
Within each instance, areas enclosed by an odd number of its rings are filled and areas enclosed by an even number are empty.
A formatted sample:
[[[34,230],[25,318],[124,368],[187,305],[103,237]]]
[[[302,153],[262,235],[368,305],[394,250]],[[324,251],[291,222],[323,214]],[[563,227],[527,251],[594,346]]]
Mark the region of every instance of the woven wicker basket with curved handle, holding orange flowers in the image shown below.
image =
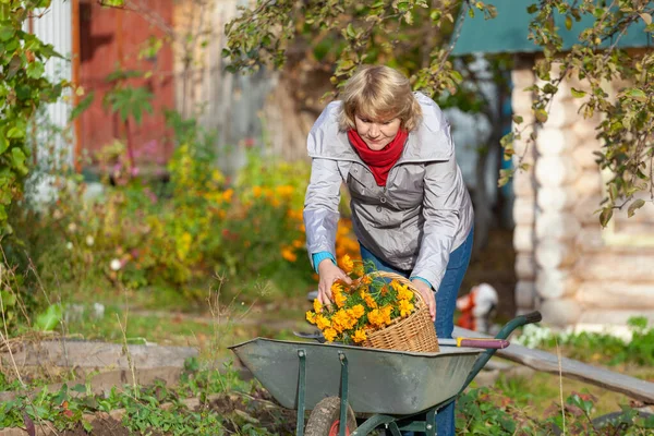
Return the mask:
[[[413,287],[413,283],[395,272],[375,271],[368,276],[373,278],[395,279],[400,283],[407,284],[415,295],[414,304],[416,311],[405,318],[395,318],[389,326],[383,329],[367,330],[367,339],[363,341],[363,347],[398,351],[438,352],[438,338],[436,337],[436,329],[429,316],[429,307],[424,302],[417,289]]]

